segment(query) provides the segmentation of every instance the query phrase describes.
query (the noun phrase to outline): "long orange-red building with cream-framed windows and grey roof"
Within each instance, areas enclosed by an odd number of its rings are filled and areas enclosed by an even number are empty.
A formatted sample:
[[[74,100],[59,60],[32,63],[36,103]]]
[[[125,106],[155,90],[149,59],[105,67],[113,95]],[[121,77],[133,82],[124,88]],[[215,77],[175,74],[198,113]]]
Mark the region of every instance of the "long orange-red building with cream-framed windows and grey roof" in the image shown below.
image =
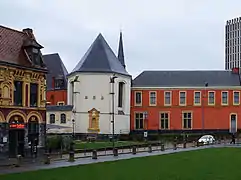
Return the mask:
[[[133,80],[131,130],[241,129],[237,71],[144,71]]]

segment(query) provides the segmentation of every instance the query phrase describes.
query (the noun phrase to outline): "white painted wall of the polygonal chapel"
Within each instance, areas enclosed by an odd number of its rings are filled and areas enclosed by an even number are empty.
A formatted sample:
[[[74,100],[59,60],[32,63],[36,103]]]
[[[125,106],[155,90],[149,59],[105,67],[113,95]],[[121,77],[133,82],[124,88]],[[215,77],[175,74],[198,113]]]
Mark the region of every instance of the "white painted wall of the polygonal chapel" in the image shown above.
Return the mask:
[[[76,133],[88,133],[89,114],[92,108],[100,111],[100,133],[112,134],[112,92],[110,77],[113,74],[103,73],[78,73],[68,77],[68,104],[72,104],[72,87],[71,81],[75,76],[79,76],[75,83],[74,106],[75,114],[75,129]],[[115,134],[120,132],[130,132],[130,93],[131,93],[131,77],[115,74],[118,78],[114,84],[114,103],[115,103]],[[118,108],[118,82],[123,81],[124,87],[124,106]],[[103,96],[103,99],[101,97]],[[88,99],[85,99],[88,97]],[[95,98],[95,99],[94,99]],[[118,110],[123,110],[125,115],[118,115]]]

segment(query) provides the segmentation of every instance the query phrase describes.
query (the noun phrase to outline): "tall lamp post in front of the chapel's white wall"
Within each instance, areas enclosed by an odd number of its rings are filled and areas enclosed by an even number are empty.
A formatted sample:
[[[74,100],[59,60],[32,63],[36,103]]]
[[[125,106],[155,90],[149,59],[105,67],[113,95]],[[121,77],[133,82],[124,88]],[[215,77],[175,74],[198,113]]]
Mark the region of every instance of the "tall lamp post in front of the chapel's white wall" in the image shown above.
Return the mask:
[[[113,75],[112,77],[110,77],[110,84],[111,84],[111,89],[112,92],[110,93],[112,95],[112,146],[113,149],[115,148],[115,141],[114,141],[114,136],[115,136],[115,79],[117,77],[115,75]]]

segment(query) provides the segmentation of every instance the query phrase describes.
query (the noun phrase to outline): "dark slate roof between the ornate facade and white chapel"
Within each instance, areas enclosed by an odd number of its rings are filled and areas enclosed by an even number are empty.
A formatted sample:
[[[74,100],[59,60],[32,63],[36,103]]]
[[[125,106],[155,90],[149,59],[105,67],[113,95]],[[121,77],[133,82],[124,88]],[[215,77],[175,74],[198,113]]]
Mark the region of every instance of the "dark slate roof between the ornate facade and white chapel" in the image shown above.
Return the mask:
[[[58,53],[54,54],[46,54],[43,56],[44,63],[47,66],[48,74],[47,74],[47,90],[52,89],[52,81],[53,78],[64,78],[64,89],[67,88],[67,79],[66,76],[68,74],[68,71],[61,60]]]

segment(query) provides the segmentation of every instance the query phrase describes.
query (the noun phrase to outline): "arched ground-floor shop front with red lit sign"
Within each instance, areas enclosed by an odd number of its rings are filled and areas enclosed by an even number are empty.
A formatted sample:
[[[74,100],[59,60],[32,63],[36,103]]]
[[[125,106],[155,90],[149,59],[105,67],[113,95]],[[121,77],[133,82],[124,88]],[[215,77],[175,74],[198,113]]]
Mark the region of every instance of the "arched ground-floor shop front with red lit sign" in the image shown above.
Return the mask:
[[[9,113],[6,121],[0,122],[0,153],[9,157],[17,155],[36,156],[44,145],[45,121],[38,112],[25,115],[21,111]]]

